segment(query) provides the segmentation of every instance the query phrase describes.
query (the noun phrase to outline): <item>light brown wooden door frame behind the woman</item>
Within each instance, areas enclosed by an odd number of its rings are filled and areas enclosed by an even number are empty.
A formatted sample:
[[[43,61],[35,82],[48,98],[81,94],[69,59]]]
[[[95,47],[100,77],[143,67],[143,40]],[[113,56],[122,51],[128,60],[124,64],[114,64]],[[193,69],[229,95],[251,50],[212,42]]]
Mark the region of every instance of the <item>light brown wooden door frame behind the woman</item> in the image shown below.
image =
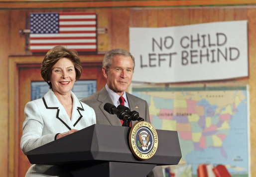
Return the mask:
[[[102,63],[104,54],[80,56],[81,63]],[[19,67],[41,64],[44,56],[9,56],[8,58],[8,177],[18,177],[18,99]]]

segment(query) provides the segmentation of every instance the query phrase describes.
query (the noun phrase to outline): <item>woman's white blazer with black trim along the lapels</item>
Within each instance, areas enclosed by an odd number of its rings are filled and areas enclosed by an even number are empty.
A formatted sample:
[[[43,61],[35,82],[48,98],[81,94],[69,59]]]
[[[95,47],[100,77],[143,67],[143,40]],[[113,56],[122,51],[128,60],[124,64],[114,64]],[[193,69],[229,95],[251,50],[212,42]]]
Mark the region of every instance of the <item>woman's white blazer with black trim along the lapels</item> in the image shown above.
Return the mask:
[[[25,120],[20,147],[26,152],[54,141],[57,133],[70,129],[83,129],[96,123],[94,110],[80,102],[73,92],[73,110],[71,119],[52,90],[43,98],[28,102],[25,106]]]

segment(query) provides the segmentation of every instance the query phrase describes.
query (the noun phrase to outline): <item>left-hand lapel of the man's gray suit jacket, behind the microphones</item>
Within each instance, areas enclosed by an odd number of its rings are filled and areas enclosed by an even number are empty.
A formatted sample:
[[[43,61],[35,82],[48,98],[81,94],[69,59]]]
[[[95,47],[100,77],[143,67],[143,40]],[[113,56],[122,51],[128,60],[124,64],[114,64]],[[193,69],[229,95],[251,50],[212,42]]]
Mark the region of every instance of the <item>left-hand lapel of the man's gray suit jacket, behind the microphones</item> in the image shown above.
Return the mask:
[[[106,116],[106,118],[110,121],[111,125],[121,126],[121,121],[117,117],[117,115],[111,115],[107,111],[104,110],[105,103],[111,103],[113,104],[108,91],[104,87],[101,91],[99,91],[98,101],[101,102],[99,108],[103,112],[103,114]]]

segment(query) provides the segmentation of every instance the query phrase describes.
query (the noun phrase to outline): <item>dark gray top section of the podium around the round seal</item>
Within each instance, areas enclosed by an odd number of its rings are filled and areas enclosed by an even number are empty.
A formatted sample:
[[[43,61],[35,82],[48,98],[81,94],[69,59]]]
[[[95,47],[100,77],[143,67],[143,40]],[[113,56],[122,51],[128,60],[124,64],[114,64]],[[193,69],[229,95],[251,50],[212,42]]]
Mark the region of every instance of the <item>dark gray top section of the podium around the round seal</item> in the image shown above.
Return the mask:
[[[181,159],[177,131],[156,130],[158,148],[153,157],[138,160],[129,148],[130,127],[94,124],[57,139],[26,155],[31,164],[64,165],[102,161],[176,165]]]

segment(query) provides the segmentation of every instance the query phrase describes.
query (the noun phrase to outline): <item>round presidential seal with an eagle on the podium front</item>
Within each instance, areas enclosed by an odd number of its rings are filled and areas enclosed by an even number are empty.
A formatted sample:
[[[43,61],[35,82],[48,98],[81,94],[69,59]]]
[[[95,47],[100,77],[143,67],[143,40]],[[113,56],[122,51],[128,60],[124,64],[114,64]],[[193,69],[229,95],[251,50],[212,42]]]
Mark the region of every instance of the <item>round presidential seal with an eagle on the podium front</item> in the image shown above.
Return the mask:
[[[140,160],[151,158],[158,145],[158,136],[152,124],[146,121],[135,123],[129,133],[129,146],[131,152]]]

